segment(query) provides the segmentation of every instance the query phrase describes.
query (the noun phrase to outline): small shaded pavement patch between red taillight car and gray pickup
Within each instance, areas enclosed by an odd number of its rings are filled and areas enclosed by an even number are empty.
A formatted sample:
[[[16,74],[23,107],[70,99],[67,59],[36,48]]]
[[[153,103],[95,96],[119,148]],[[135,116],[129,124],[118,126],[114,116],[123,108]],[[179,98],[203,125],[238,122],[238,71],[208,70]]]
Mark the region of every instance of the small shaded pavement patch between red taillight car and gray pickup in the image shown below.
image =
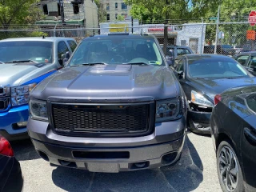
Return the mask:
[[[15,158],[17,158],[18,161],[40,158],[40,156],[34,150],[34,146],[30,139],[10,142],[10,145],[13,148]]]

